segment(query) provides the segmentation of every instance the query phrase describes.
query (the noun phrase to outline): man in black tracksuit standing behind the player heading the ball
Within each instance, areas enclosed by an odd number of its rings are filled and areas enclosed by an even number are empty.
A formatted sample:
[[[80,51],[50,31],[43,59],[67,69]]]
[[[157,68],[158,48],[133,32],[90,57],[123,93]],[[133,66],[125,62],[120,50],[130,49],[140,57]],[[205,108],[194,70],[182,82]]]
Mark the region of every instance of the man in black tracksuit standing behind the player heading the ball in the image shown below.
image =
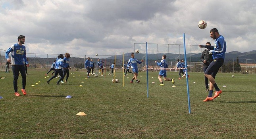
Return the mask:
[[[210,42],[206,42],[206,46],[210,46],[210,45],[211,45]],[[204,72],[205,72],[208,66],[210,65],[210,63],[212,62],[212,53],[209,53],[209,50],[205,49],[204,51],[202,51],[202,55],[200,59],[204,63]],[[208,78],[206,76],[204,76],[204,81],[205,81],[205,87],[206,87],[205,91],[209,91]]]

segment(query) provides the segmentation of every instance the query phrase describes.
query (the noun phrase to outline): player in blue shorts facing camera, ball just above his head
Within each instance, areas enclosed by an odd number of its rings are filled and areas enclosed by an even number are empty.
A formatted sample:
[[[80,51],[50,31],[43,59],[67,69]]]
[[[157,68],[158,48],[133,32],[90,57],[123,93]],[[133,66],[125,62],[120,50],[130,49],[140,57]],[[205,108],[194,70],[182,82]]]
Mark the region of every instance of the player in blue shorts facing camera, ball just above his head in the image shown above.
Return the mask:
[[[127,65],[131,64],[131,69],[133,70],[134,76],[130,83],[133,83],[133,80],[136,80],[137,83],[140,82],[140,80],[137,79],[137,76],[139,74],[137,63],[141,64],[142,62],[143,62],[143,59],[139,61],[138,59],[134,58],[134,53],[131,53],[131,58],[129,59]]]

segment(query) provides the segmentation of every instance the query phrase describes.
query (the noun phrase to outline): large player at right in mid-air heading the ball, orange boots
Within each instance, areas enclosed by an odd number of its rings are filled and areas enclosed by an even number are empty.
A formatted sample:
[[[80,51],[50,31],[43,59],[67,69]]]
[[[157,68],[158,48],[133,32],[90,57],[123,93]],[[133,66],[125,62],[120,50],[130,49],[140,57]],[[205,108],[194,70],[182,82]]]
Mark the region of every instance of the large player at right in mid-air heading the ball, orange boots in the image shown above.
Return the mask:
[[[206,99],[204,99],[204,101],[213,101],[213,99],[215,99],[222,93],[222,90],[218,88],[215,82],[215,76],[218,73],[219,68],[224,63],[225,52],[227,47],[225,38],[219,34],[219,31],[216,28],[210,30],[210,37],[215,40],[214,46],[204,46],[201,44],[199,45],[200,48],[209,49],[210,50],[209,53],[212,53],[212,58],[213,58],[212,63],[210,63],[210,65],[204,72],[204,75],[210,81],[209,94],[206,97]],[[215,88],[215,94],[212,97],[214,88]]]

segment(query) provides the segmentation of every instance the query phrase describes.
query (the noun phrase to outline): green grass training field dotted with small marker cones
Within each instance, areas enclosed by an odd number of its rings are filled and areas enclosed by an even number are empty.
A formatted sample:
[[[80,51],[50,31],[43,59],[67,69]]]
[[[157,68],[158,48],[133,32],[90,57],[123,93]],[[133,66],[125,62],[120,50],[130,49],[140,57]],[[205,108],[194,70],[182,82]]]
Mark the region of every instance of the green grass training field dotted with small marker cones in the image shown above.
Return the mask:
[[[139,84],[129,83],[131,74],[125,76],[124,87],[120,70],[119,83],[111,82],[112,75],[85,79],[84,71],[71,71],[69,83],[61,85],[56,85],[57,78],[47,84],[51,75],[44,78],[46,70],[28,73],[27,95],[16,97],[12,73],[0,72],[5,77],[0,79],[0,139],[256,138],[256,74],[231,78],[232,74],[218,73],[222,94],[203,102],[208,95],[204,75],[190,73],[189,114],[186,80],[177,80],[177,72],[167,72],[175,78],[172,87],[171,81],[158,86],[158,72],[150,71],[148,98],[146,72],[139,72]],[[18,88],[21,93],[21,75]],[[81,111],[87,116],[76,115]]]

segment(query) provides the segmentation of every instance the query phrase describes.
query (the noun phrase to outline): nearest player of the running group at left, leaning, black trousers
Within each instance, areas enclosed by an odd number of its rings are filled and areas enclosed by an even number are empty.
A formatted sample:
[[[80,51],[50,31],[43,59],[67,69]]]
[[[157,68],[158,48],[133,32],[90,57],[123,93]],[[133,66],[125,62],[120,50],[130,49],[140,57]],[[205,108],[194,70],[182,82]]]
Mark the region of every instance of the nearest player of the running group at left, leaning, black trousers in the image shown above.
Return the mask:
[[[60,81],[62,81],[64,78],[63,71],[62,71],[62,68],[65,68],[63,64],[63,59],[64,59],[64,55],[60,54],[59,59],[55,62],[54,76],[52,76],[48,81],[46,81],[48,84],[50,84],[50,80],[52,80],[53,78],[57,77],[58,74],[60,74],[61,78],[56,83],[57,85],[60,85]]]

